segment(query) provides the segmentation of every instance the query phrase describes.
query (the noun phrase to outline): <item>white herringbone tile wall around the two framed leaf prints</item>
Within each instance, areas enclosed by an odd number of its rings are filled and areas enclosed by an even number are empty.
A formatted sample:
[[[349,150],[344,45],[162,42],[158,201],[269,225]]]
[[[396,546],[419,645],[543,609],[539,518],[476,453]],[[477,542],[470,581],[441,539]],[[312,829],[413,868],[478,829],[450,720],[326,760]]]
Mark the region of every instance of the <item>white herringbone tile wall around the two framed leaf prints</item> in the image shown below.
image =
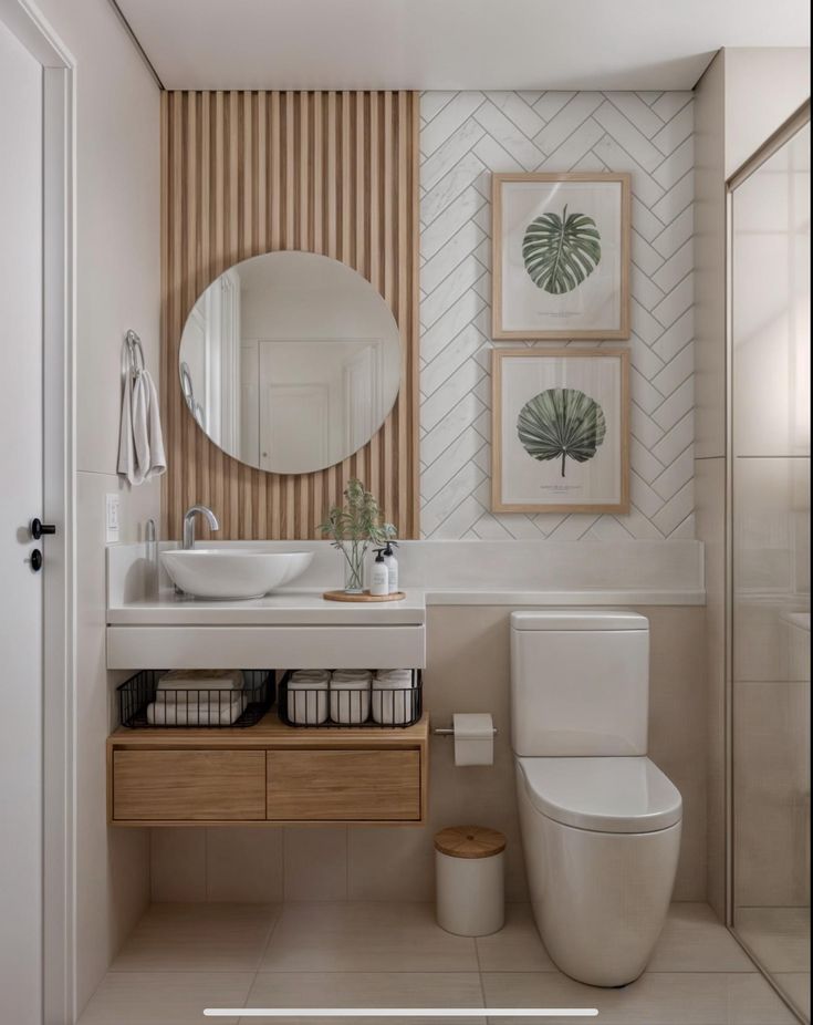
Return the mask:
[[[423,94],[424,537],[694,537],[691,99],[690,92]],[[489,511],[490,350],[518,344],[490,337],[491,173],[511,170],[632,172],[633,333],[622,343],[632,352],[628,515]]]

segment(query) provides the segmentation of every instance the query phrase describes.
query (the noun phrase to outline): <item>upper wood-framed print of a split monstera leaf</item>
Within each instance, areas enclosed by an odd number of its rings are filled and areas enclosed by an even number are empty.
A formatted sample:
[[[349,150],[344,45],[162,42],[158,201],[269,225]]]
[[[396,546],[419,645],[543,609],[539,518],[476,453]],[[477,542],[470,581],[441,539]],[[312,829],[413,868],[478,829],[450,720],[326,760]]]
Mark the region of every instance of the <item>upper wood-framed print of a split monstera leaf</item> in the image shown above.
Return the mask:
[[[496,339],[629,338],[628,174],[492,175]]]

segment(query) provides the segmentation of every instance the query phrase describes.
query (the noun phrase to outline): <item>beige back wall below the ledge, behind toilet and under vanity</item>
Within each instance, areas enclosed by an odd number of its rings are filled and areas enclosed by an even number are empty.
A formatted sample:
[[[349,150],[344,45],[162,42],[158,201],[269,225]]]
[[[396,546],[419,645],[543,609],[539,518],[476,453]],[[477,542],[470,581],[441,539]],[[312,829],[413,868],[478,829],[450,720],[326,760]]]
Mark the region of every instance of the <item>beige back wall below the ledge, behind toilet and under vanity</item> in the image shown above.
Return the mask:
[[[684,797],[675,895],[706,892],[703,610],[639,609],[652,630],[649,752]],[[491,712],[494,765],[456,768],[452,743],[432,738],[424,827],[154,829],[153,899],[430,900],[432,835],[467,821],[503,830],[508,898],[527,897],[509,719],[508,607],[435,607],[427,628],[425,704],[436,724],[452,712]]]

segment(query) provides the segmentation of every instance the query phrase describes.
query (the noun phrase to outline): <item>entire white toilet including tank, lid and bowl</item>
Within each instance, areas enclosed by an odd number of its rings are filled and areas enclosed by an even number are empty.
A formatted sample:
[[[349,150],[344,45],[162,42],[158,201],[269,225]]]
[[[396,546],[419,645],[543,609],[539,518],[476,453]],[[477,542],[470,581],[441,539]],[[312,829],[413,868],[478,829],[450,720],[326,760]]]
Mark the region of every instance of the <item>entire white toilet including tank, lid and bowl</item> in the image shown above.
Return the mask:
[[[594,986],[644,971],[666,918],[681,800],[647,757],[649,623],[511,614],[511,745],[533,914],[554,963]]]

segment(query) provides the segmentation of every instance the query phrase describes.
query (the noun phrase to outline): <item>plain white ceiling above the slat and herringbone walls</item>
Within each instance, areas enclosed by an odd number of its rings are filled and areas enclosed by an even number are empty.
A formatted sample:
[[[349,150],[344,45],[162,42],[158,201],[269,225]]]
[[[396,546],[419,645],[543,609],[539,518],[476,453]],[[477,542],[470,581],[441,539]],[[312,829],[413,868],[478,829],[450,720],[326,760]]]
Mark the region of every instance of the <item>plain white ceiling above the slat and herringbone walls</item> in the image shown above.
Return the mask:
[[[806,0],[118,0],[167,89],[690,89]]]

